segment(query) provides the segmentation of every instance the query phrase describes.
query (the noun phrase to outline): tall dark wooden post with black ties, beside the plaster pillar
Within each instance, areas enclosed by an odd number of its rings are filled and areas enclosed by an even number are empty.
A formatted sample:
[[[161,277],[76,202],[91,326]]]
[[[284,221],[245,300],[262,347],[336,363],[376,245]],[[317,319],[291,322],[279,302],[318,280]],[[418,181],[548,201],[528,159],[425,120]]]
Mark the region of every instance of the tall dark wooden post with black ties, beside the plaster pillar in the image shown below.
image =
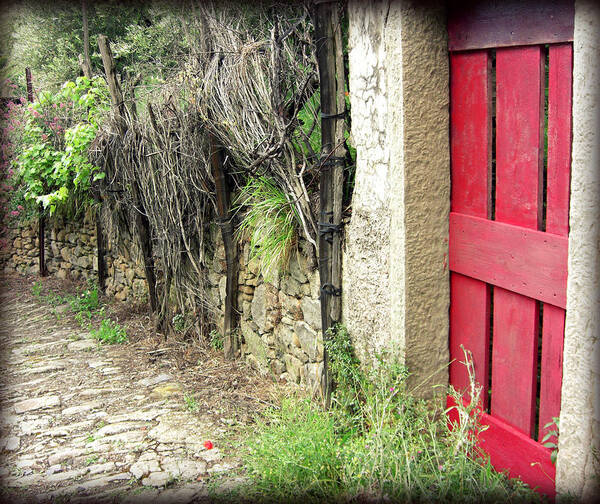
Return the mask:
[[[321,90],[321,171],[319,177],[319,274],[323,337],[341,319],[341,220],[344,182],[345,89],[339,4],[315,0],[315,38]],[[331,400],[327,352],[321,385]]]

